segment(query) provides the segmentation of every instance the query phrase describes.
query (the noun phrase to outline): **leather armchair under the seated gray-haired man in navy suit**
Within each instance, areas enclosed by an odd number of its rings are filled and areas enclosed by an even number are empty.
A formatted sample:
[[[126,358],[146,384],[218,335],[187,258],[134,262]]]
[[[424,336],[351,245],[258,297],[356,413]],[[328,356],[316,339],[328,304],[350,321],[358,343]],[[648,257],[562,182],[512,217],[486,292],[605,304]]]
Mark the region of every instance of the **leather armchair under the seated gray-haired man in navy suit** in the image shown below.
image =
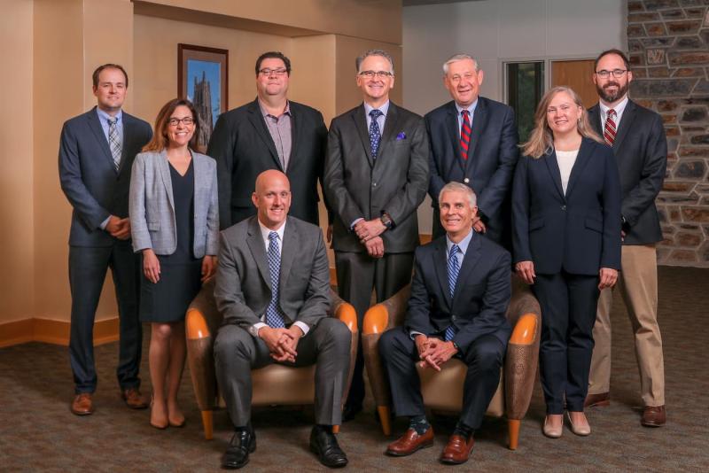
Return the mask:
[[[392,431],[389,407],[391,394],[379,357],[378,341],[386,330],[403,324],[409,293],[410,288],[407,286],[392,298],[371,306],[364,314],[362,324],[362,354],[385,435],[391,435]],[[487,407],[486,415],[507,415],[510,449],[515,450],[518,446],[520,423],[532,399],[541,330],[539,302],[529,287],[516,275],[512,276],[512,299],[507,309],[507,320],[512,326],[512,335],[507,346],[500,384],[490,406]],[[452,359],[440,372],[417,369],[425,407],[460,412],[463,407],[463,384],[467,370],[463,361]]]

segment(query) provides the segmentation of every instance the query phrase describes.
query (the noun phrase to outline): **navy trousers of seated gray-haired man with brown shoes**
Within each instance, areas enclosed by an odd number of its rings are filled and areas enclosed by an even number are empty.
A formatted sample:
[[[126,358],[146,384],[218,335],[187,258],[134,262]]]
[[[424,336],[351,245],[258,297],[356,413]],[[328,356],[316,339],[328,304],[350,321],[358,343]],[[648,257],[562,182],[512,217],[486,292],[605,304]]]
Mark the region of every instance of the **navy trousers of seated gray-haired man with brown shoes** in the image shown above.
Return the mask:
[[[495,335],[483,335],[472,342],[466,353],[458,353],[461,361],[468,366],[460,420],[471,429],[479,429],[483,415],[495,396],[505,349]],[[389,375],[396,415],[425,415],[421,381],[416,368],[418,350],[409,333],[402,327],[387,330],[379,339],[379,353]]]

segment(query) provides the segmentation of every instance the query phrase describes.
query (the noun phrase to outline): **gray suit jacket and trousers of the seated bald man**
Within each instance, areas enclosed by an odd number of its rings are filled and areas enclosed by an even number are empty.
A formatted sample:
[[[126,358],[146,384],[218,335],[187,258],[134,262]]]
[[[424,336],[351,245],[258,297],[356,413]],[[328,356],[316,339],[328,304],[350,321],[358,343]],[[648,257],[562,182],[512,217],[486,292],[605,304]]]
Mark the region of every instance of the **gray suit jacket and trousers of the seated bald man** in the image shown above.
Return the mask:
[[[274,362],[267,345],[248,331],[271,300],[269,261],[258,217],[221,234],[214,299],[224,324],[214,341],[216,375],[235,427],[251,418],[251,370]],[[330,269],[323,232],[306,221],[285,222],[278,291],[286,327],[308,325],[300,338],[294,366],[317,364],[316,423],[341,423],[342,397],[349,372],[351,334],[328,317]],[[291,363],[284,363],[291,365]]]

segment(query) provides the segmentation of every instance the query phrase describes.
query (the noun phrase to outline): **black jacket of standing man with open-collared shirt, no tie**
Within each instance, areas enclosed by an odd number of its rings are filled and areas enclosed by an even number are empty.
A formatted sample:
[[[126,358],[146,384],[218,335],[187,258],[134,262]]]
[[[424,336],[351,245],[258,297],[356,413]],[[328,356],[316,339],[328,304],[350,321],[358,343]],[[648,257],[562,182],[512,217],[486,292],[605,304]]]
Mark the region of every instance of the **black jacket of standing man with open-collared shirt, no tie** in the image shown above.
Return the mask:
[[[291,181],[290,214],[319,225],[317,180],[322,183],[327,128],[321,112],[292,101],[289,105],[292,150],[285,174]],[[283,171],[258,99],[219,116],[206,154],[216,159],[222,229],[256,214],[251,195],[259,174]]]

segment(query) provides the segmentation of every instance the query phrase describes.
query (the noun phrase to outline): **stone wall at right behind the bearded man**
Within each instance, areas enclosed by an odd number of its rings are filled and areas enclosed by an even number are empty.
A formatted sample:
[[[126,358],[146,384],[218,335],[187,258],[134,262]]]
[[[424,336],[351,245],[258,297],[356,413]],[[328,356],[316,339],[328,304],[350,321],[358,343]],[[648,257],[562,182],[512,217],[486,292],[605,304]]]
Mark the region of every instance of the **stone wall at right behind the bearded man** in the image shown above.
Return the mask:
[[[709,0],[628,0],[630,96],[662,115],[658,263],[709,268]]]

